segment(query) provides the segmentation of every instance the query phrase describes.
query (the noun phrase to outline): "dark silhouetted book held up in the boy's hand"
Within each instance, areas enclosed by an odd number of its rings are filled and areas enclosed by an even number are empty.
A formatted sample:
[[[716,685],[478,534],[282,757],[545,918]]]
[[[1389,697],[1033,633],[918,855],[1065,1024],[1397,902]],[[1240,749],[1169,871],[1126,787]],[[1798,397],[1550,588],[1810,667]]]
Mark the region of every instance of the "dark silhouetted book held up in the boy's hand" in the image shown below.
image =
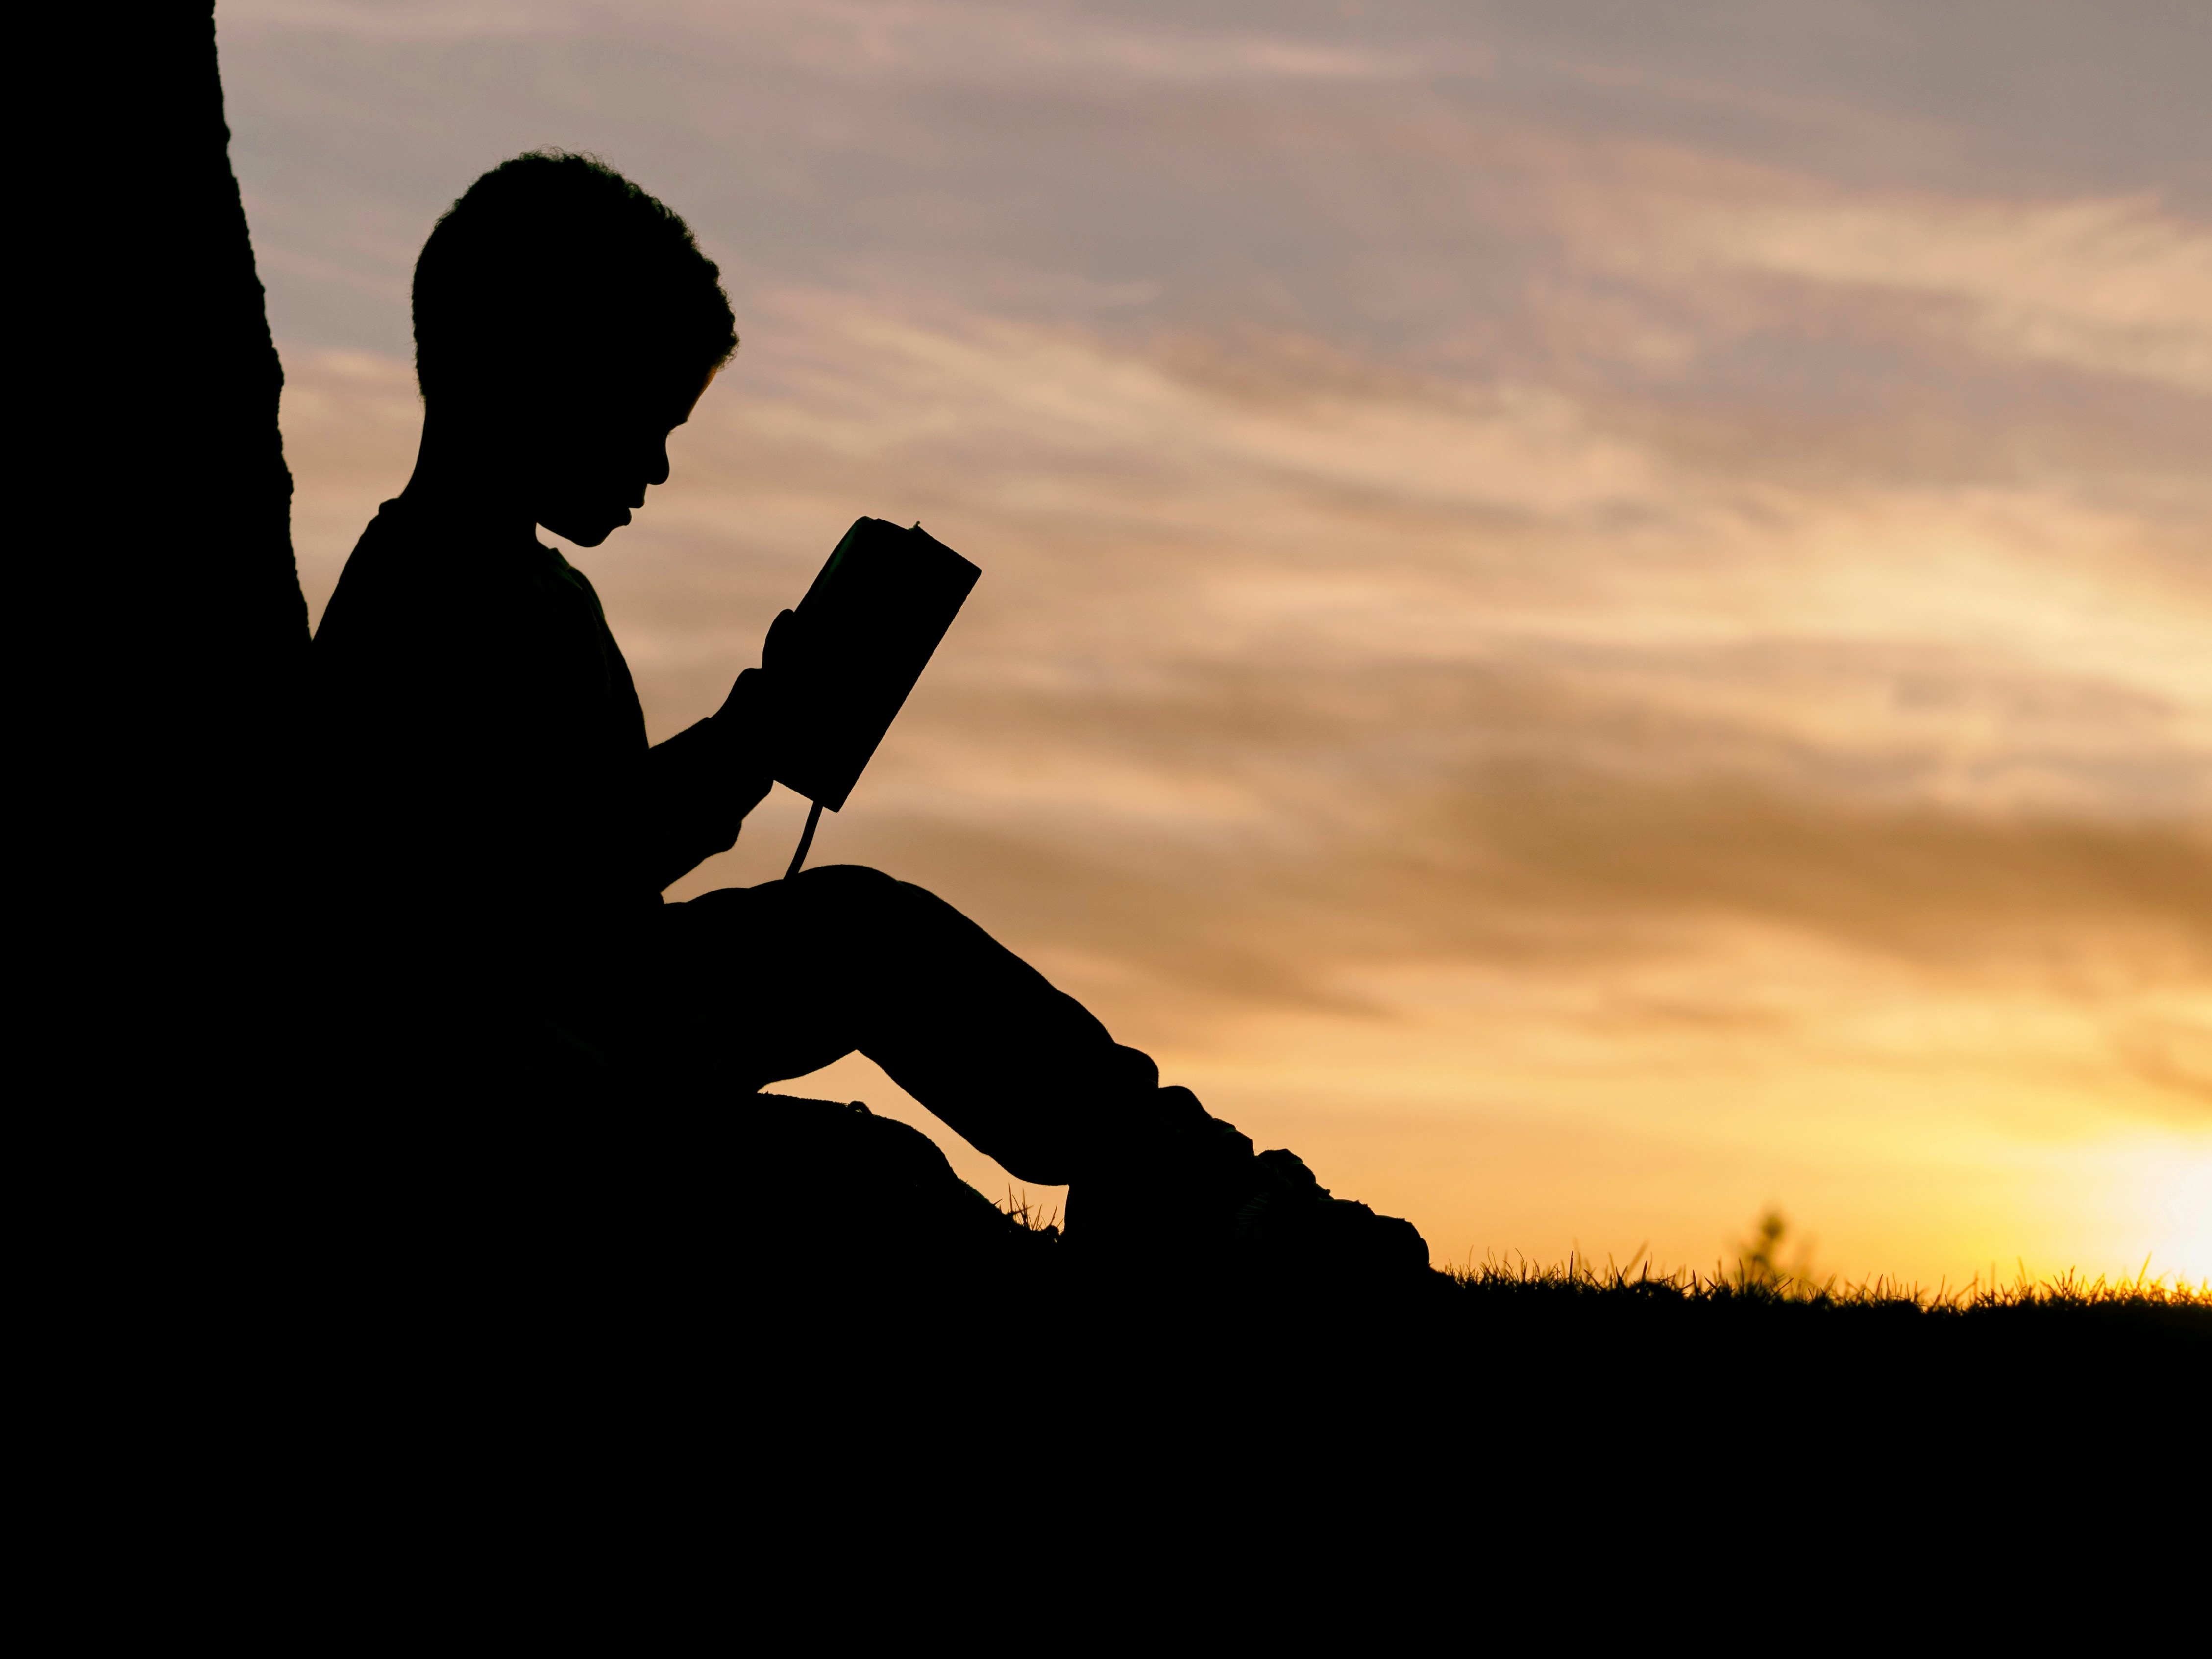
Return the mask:
[[[830,812],[845,805],[980,575],[920,524],[854,520],[799,602],[776,783]]]

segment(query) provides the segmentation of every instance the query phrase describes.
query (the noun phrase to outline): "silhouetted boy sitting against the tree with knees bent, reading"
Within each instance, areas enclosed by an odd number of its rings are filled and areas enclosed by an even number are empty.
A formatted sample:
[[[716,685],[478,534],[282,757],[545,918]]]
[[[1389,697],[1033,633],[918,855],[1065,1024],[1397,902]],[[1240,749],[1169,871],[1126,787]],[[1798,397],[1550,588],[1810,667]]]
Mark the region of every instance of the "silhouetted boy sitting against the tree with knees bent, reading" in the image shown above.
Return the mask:
[[[648,748],[591,582],[535,540],[628,524],[737,349],[677,215],[588,157],[515,157],[438,221],[414,323],[420,458],[314,639],[321,929],[358,1075],[697,1099],[858,1048],[1015,1177],[1073,1181],[1077,1248],[1265,1250],[1321,1223],[1374,1265],[1427,1259],[920,887],[847,865],[661,902],[768,794],[779,661],[805,644],[785,613],[719,712]]]

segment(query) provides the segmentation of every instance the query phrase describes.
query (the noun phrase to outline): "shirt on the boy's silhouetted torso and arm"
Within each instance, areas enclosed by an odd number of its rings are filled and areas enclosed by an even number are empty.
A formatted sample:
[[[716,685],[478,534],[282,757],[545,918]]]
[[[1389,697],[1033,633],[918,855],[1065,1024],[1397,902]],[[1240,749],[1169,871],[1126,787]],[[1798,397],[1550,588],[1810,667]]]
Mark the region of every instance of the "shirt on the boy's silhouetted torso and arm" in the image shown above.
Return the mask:
[[[327,931],[425,980],[575,987],[737,841],[728,717],[650,748],[582,571],[385,502],[312,650]]]

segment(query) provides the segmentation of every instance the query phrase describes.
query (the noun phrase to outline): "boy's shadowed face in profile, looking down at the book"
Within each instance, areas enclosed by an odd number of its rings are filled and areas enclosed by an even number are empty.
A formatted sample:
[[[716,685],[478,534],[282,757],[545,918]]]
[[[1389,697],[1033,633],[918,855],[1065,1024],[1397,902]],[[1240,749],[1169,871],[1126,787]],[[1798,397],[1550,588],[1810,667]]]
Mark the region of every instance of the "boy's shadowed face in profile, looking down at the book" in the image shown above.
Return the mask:
[[[668,482],[668,434],[690,420],[714,374],[611,387],[557,409],[526,456],[531,518],[577,546],[628,524],[646,489]]]

